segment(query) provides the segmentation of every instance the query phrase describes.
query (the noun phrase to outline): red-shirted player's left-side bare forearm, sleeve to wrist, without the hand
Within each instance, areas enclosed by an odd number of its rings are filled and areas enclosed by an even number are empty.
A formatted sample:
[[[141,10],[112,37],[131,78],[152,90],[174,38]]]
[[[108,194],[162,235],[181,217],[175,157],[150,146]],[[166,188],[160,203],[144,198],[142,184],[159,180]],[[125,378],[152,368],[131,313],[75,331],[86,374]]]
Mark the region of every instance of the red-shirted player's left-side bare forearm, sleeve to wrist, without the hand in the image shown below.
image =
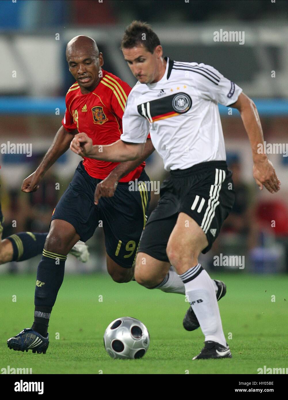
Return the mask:
[[[36,170],[38,175],[44,175],[45,172],[54,164],[54,162],[57,161],[58,158],[68,150],[70,142],[76,133],[77,130],[70,133],[64,128],[64,126],[61,126],[55,135],[53,143]]]

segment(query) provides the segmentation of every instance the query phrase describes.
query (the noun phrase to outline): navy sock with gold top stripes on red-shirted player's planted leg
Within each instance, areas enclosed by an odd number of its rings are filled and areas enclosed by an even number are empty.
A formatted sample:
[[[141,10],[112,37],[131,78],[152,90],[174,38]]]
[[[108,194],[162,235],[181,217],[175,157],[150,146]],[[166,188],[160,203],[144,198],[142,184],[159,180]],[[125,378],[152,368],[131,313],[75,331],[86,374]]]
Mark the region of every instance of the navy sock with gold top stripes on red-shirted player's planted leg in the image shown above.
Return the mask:
[[[67,256],[44,249],[38,265],[32,329],[44,337],[47,336],[50,313],[63,282],[66,258]]]

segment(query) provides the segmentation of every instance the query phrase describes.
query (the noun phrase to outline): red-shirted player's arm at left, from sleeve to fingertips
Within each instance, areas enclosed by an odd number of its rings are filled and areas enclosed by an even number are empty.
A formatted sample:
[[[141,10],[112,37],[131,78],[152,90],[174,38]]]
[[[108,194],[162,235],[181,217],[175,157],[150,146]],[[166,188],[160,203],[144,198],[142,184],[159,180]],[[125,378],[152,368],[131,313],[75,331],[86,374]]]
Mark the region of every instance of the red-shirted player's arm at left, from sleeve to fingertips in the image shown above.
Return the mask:
[[[76,133],[77,130],[68,132],[64,126],[61,126],[36,171],[24,179],[21,187],[22,192],[35,192],[39,188],[38,183],[42,180],[45,172],[66,152],[66,150],[68,150],[70,142]]]

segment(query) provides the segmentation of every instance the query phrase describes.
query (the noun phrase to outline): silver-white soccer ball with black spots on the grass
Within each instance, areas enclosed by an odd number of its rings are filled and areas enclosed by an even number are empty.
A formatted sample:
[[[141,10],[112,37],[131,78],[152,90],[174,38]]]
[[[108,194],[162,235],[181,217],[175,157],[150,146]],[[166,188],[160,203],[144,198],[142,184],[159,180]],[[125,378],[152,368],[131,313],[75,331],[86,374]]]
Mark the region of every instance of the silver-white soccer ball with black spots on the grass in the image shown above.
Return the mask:
[[[104,346],[112,358],[141,358],[148,350],[149,332],[136,318],[117,318],[104,333]]]

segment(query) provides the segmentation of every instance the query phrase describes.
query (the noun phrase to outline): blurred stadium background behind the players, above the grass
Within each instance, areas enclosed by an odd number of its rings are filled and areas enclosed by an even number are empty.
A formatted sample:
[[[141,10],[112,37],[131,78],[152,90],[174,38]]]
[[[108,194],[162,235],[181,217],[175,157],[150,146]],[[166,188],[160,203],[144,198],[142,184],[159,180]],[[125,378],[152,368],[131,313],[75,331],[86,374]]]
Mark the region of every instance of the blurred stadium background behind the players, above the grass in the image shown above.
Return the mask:
[[[31,157],[0,153],[3,238],[26,230],[48,232],[52,211],[79,162],[68,150],[36,193],[20,191],[61,125],[65,94],[74,83],[65,59],[67,42],[78,34],[94,38],[104,55],[104,68],[133,86],[136,80],[119,46],[124,28],[134,19],[152,24],[165,55],[210,64],[241,86],[258,107],[264,140],[288,146],[287,1],[1,1],[0,144],[32,144]],[[220,29],[244,32],[244,44],[214,42],[214,32]],[[282,182],[280,192],[260,192],[252,177],[250,144],[240,114],[222,106],[220,114],[236,203],[202,262],[210,270],[237,271],[239,266],[215,266],[214,256],[245,256],[243,272],[288,272],[288,153],[268,156]],[[165,178],[156,154],[148,159],[146,171],[151,180]],[[60,190],[55,189],[57,182]],[[153,195],[149,213],[157,200]],[[106,271],[102,228],[87,243],[90,261],[82,264],[69,256],[66,272]],[[39,258],[5,264],[0,272],[34,271]]]

